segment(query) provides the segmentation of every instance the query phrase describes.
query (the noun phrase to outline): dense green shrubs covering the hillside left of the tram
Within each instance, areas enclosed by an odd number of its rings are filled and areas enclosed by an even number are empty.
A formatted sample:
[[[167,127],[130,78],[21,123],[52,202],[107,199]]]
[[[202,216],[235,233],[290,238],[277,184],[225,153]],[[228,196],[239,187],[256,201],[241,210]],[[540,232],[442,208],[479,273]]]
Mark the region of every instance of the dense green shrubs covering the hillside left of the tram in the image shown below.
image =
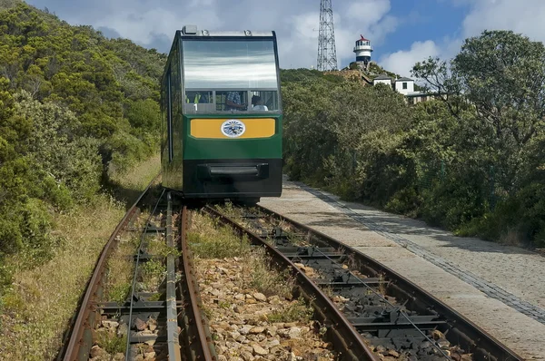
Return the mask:
[[[165,55],[18,1],[0,3],[0,263],[48,259],[54,212],[158,148]],[[0,268],[0,280],[8,281]]]

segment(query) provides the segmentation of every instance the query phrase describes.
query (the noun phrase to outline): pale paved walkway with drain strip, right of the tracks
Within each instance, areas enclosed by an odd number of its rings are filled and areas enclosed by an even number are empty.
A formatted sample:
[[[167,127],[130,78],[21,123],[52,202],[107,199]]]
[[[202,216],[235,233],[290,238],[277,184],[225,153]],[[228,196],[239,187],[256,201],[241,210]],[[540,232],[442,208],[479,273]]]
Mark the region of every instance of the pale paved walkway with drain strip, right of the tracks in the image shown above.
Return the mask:
[[[455,237],[301,183],[284,181],[282,198],[261,204],[381,261],[520,356],[545,360],[545,257]]]

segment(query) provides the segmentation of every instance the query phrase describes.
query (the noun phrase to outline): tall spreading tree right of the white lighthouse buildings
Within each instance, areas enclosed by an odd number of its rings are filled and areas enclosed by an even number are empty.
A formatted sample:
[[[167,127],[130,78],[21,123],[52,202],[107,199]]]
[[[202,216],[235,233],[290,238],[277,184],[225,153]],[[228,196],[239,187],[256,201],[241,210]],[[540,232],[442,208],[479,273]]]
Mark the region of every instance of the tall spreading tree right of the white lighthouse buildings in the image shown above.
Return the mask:
[[[511,31],[484,31],[466,39],[448,65],[430,58],[412,73],[445,94],[457,119],[472,110],[469,125],[486,141],[486,161],[499,166],[505,190],[516,190],[526,144],[545,130],[545,46]]]

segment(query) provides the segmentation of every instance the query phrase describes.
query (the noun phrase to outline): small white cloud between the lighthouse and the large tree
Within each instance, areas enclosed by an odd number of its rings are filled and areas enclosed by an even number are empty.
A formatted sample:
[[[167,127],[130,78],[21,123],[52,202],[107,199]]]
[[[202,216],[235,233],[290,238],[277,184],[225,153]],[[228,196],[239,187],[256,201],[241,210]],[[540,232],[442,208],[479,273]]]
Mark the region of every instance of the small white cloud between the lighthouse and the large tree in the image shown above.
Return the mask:
[[[427,40],[413,43],[409,50],[385,55],[379,63],[390,72],[398,73],[401,76],[411,76],[411,68],[415,63],[440,54],[441,48],[433,41]]]

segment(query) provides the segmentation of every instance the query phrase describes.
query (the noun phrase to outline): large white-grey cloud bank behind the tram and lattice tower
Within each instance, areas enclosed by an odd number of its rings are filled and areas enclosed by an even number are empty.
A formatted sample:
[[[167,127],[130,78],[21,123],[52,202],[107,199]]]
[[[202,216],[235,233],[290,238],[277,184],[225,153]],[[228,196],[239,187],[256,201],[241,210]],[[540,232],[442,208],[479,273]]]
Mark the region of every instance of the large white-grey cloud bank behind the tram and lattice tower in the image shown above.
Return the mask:
[[[27,0],[45,5],[71,24],[103,27],[137,44],[164,47],[184,24],[210,30],[275,30],[282,67],[316,64],[320,2],[317,0]],[[391,0],[333,2],[335,40],[339,66],[350,63],[360,34],[380,46],[400,20],[390,14]],[[158,42],[157,39],[162,39]],[[170,46],[170,45],[169,45]]]

